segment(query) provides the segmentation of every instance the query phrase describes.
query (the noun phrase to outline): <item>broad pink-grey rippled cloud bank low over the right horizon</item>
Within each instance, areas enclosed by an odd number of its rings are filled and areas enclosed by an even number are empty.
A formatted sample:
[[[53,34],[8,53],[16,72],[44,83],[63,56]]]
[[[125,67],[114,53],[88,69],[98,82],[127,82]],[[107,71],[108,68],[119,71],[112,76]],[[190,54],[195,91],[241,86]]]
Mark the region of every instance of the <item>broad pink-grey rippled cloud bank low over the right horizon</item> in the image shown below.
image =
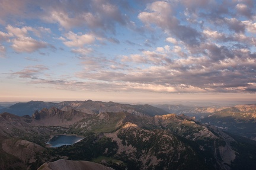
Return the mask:
[[[254,82],[256,57],[249,50],[229,50],[215,44],[204,44],[202,47],[209,53],[201,57],[174,57],[177,47],[158,47],[155,51],[143,51],[142,54],[123,56],[120,63],[134,63],[126,70],[106,69],[107,64],[95,69],[86,69],[79,73],[79,78],[101,81],[114,87],[126,86],[130,91],[161,92],[245,92],[248,82]],[[242,57],[240,57],[242,56]],[[168,60],[169,59],[169,60]],[[102,63],[100,60],[98,63]],[[94,62],[95,65],[98,65]],[[116,62],[115,66],[120,63]],[[137,63],[148,66],[136,67]],[[239,64],[238,64],[239,63]],[[88,65],[87,61],[87,65]],[[91,63],[92,64],[92,63]],[[95,66],[94,65],[94,66]],[[130,64],[130,66],[133,64]],[[154,66],[152,66],[154,65]],[[246,72],[246,74],[245,74]],[[111,89],[108,89],[111,90]]]

